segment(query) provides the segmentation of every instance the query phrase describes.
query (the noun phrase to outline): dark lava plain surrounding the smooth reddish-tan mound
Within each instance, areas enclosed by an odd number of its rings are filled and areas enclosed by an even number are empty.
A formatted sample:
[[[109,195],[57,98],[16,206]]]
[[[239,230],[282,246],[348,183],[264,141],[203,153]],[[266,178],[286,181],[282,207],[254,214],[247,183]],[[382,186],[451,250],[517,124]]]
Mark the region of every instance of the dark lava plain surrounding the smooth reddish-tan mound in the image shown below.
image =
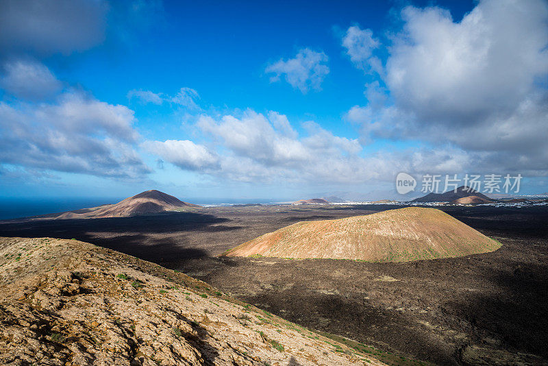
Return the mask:
[[[1,236],[76,238],[185,273],[301,326],[440,365],[548,359],[548,208],[443,210],[503,244],[411,263],[216,258],[290,223],[396,206],[208,208],[129,219],[4,223]],[[516,358],[517,357],[517,358]],[[542,358],[539,358],[542,357]]]

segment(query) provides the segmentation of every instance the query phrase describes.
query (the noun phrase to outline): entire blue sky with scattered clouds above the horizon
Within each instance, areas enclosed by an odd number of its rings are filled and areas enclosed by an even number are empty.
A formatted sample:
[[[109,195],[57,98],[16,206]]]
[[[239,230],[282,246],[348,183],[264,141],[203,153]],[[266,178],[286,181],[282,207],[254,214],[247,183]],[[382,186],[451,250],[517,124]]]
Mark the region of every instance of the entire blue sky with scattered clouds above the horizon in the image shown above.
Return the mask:
[[[0,5],[0,195],[548,191],[545,1]],[[418,193],[417,193],[418,194]]]

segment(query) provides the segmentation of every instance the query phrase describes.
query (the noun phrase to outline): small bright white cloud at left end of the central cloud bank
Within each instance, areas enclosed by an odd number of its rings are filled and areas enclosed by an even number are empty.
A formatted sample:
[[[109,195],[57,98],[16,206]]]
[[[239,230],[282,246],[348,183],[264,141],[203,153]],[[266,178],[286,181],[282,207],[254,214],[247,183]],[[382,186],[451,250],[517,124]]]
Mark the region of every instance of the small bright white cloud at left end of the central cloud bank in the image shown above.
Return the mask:
[[[219,162],[205,146],[188,140],[145,141],[142,146],[182,169],[212,169]]]

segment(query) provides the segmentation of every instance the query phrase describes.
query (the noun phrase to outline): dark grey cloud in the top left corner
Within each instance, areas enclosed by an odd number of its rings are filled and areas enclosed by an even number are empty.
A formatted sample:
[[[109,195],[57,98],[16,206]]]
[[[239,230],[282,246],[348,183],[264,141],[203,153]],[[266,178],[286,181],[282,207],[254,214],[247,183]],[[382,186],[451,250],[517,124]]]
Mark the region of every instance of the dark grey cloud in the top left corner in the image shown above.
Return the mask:
[[[106,1],[0,1],[0,49],[3,52],[69,54],[105,38]]]

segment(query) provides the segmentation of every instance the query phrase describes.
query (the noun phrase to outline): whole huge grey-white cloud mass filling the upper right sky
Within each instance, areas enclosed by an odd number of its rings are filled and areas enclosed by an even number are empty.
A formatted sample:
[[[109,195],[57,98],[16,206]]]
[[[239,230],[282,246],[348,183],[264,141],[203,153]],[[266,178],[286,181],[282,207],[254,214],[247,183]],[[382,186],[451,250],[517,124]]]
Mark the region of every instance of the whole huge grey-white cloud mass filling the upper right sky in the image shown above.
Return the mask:
[[[386,89],[370,85],[369,103],[347,112],[362,143],[449,144],[475,167],[546,174],[547,4],[484,0],[458,23],[435,7],[404,8],[401,16]]]

